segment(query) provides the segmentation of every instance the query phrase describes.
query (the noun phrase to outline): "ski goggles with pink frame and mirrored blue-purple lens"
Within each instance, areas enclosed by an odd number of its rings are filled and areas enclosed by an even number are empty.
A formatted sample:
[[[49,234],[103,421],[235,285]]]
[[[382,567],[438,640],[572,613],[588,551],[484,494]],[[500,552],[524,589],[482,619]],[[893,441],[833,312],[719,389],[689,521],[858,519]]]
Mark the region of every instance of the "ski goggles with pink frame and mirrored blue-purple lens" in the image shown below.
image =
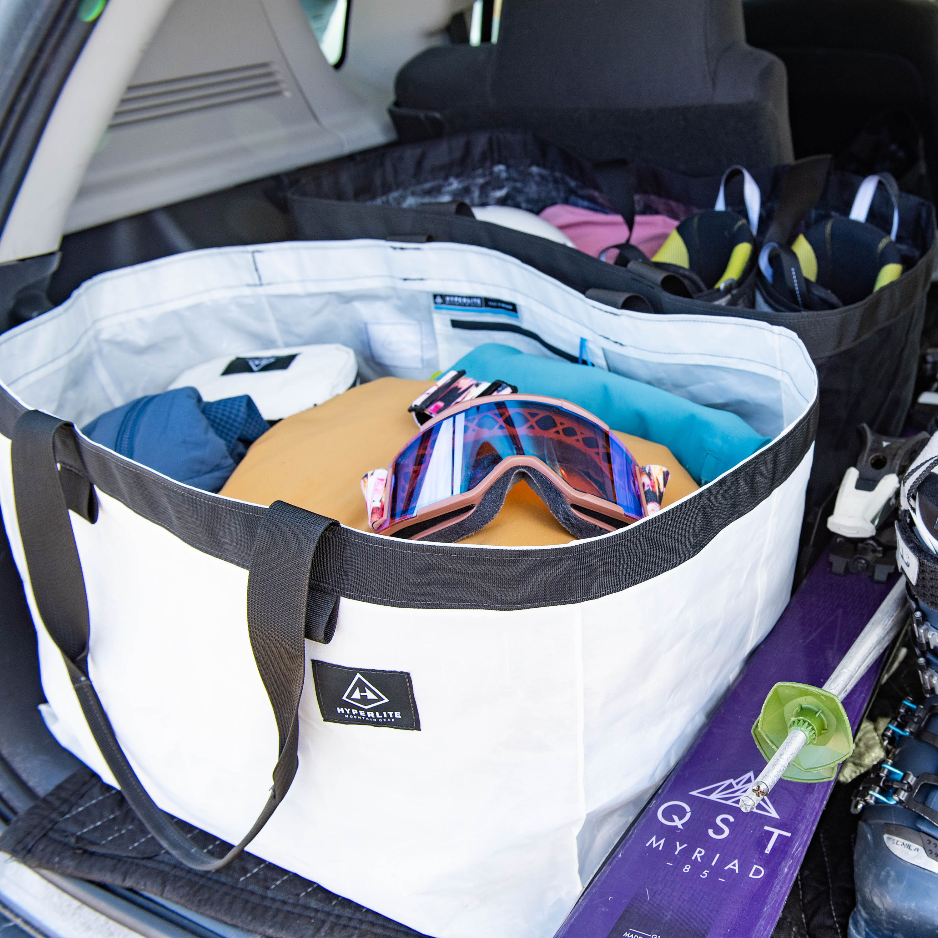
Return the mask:
[[[448,408],[361,484],[376,533],[453,542],[491,522],[519,477],[570,534],[594,537],[657,510],[668,470],[640,466],[576,404],[512,394]]]

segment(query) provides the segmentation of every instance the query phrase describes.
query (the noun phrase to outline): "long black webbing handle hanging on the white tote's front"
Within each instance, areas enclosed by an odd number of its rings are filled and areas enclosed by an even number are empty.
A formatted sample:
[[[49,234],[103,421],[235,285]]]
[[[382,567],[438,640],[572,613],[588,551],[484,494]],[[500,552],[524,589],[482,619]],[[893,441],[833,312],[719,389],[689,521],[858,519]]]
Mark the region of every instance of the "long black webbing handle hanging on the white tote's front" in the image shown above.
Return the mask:
[[[65,658],[84,718],[130,807],[180,863],[192,870],[219,870],[254,839],[294,779],[296,711],[306,672],[304,633],[311,631],[321,636],[319,641],[328,641],[335,629],[338,607],[335,596],[321,598],[316,591],[310,596],[310,567],[320,537],[336,522],[275,502],[267,509],[258,530],[248,574],[248,630],[254,659],[277,722],[279,758],[270,797],[260,816],[237,846],[214,859],[197,849],[146,794],[88,677],[88,602],[56,464],[57,453],[63,470],[68,468],[72,475],[82,476],[83,467],[74,464],[67,467],[66,457],[61,455],[79,453],[70,423],[39,411],[27,411],[17,420],[12,434],[14,498],[39,615]],[[75,487],[74,480],[69,479],[68,488]]]

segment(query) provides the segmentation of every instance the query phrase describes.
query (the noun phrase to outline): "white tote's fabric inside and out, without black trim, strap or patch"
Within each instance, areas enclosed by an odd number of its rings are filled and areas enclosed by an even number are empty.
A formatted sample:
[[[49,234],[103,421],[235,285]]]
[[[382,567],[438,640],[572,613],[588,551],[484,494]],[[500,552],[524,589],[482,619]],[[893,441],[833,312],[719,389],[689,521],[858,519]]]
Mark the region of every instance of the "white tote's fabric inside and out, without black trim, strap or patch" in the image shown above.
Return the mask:
[[[437,294],[517,314],[434,311]],[[618,312],[489,250],[373,241],[198,251],[102,275],[0,336],[0,376],[81,425],[246,347],[340,341],[369,377],[428,377],[487,340],[551,355],[454,318],[514,323],[574,355],[585,339],[598,367],[763,432],[790,431],[817,392],[784,329]],[[420,730],[325,722],[310,665],[299,770],[251,853],[438,938],[550,938],[784,607],[811,457],[686,563],[611,596],[523,612],[343,598],[334,640],[307,643],[308,658],[409,673]],[[236,842],[277,756],[248,573],[98,500],[96,524],[72,518],[95,687],[159,806]],[[0,507],[37,623],[47,723],[113,783],[28,589],[6,439]]]

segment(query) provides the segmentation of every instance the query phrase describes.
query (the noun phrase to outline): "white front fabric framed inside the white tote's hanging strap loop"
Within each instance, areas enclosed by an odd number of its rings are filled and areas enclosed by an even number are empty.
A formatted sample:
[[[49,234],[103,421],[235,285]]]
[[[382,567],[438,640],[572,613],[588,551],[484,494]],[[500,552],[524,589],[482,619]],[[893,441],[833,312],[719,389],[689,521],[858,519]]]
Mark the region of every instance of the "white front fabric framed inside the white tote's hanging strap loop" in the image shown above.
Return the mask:
[[[248,571],[108,495],[98,503],[98,522],[72,522],[92,622],[88,672],[146,790],[236,843],[277,762],[248,638]]]

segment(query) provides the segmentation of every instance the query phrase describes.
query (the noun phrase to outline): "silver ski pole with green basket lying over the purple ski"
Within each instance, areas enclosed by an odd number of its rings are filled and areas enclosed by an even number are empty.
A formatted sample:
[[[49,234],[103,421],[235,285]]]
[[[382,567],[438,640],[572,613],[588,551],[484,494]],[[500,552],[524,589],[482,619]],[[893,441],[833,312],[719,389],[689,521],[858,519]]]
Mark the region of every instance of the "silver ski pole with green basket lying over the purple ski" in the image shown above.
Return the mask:
[[[766,758],[766,749],[774,752],[759,778],[740,797],[740,809],[754,810],[781,778],[825,781],[836,776],[838,764],[854,749],[850,722],[840,702],[899,634],[906,614],[905,577],[900,577],[823,688],[805,684],[777,684],[772,688],[752,735]],[[791,714],[785,719],[788,711]],[[779,733],[786,727],[787,734]],[[793,772],[795,758],[806,747],[813,758],[808,765],[797,765]]]

